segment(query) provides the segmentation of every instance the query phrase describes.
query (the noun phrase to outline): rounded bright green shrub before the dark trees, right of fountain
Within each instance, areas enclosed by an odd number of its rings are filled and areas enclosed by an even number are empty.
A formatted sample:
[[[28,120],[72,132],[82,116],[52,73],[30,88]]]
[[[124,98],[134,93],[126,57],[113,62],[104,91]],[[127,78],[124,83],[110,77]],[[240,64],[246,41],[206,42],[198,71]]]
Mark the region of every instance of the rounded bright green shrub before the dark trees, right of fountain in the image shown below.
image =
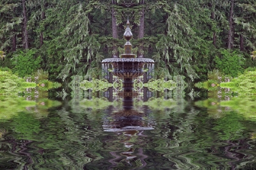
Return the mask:
[[[222,50],[221,56],[216,56],[214,61],[216,69],[220,70],[224,75],[238,77],[244,71],[244,58],[236,52]]]

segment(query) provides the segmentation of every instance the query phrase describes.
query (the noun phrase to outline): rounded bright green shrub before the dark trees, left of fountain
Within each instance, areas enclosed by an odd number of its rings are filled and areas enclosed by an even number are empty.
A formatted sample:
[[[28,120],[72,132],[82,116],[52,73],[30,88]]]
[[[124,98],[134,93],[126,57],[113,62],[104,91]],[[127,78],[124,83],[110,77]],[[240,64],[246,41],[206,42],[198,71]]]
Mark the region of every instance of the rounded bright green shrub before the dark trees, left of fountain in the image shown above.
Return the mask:
[[[13,57],[13,72],[18,73],[19,77],[31,75],[41,67],[41,56],[36,56],[37,50],[30,49],[19,52]]]

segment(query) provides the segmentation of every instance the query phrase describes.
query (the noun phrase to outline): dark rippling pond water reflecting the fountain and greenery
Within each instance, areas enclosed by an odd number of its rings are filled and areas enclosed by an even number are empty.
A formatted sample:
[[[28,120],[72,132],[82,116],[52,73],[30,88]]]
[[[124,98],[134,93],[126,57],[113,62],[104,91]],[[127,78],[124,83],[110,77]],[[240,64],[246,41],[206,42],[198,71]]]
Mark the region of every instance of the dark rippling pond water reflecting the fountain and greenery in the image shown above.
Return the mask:
[[[128,109],[49,98],[0,104],[0,169],[256,169],[256,121],[243,109],[179,94]]]

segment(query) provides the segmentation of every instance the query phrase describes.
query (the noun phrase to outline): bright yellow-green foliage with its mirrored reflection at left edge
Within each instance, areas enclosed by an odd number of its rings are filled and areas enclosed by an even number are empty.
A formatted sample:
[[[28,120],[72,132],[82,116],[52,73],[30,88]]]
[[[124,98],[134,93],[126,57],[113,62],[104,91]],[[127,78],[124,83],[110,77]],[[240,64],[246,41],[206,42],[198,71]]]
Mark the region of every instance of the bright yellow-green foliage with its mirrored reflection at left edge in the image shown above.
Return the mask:
[[[47,98],[46,90],[60,86],[47,80],[47,77],[39,70],[35,77],[26,77],[24,80],[10,72],[10,69],[0,68],[0,120],[12,118],[26,109],[40,111],[37,116],[41,117],[48,112],[49,107],[60,105]]]

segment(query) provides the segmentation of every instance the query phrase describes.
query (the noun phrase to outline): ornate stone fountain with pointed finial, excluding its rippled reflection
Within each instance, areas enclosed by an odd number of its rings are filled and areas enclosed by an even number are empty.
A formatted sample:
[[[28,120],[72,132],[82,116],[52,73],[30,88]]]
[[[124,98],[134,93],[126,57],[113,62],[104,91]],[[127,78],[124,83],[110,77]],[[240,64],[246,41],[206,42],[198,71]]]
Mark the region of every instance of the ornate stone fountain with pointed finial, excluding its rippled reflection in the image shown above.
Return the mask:
[[[150,73],[154,70],[155,61],[149,58],[136,58],[132,54],[132,32],[130,30],[130,23],[127,20],[126,31],[124,32],[124,54],[119,58],[107,58],[102,60],[102,69],[108,72],[109,68],[113,69],[113,75],[123,79],[123,92],[118,95],[124,98],[124,109],[133,106],[132,98],[137,96],[137,92],[133,92],[133,79],[142,76],[144,73]]]

